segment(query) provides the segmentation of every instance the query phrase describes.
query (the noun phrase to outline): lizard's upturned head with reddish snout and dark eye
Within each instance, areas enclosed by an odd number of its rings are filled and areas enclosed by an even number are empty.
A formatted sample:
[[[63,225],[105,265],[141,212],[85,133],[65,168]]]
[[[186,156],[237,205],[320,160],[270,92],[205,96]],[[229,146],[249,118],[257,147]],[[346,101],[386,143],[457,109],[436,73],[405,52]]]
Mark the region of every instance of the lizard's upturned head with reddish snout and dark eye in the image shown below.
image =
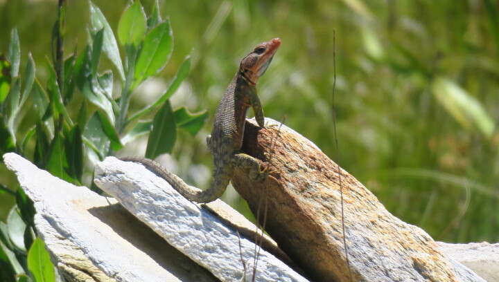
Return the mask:
[[[241,60],[239,66],[240,74],[250,83],[256,84],[259,77],[267,71],[270,62],[272,62],[272,58],[280,45],[280,38],[274,38],[257,45],[251,53]]]

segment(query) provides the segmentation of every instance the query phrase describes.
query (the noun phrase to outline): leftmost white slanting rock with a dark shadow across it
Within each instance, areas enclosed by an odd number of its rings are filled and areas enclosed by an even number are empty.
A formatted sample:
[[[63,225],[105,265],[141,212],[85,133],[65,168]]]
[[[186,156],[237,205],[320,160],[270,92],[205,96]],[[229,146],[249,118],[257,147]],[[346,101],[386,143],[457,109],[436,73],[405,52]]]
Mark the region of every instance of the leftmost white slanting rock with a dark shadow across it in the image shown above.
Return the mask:
[[[15,153],[3,160],[35,203],[37,231],[69,281],[217,281],[120,205]]]

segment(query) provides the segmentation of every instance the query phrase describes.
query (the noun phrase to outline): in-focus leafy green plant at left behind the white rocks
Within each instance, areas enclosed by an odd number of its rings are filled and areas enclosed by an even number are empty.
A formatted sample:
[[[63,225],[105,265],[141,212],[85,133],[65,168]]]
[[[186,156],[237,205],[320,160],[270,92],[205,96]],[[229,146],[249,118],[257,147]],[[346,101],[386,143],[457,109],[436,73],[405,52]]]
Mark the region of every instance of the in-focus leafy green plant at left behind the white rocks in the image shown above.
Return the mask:
[[[0,55],[0,155],[13,151],[33,158],[40,169],[53,176],[76,185],[86,183],[100,193],[91,184],[91,178],[82,179],[85,174],[93,175],[96,161],[114,155],[123,149],[125,141],[141,135],[150,137],[148,158],[172,153],[177,127],[196,135],[207,114],[193,114],[186,107],[173,110],[168,100],[189,73],[191,58],[186,56],[163,94],[134,113],[134,120],[128,115],[130,98],[139,92],[135,91],[137,86],[161,72],[173,51],[173,30],[168,19],[161,19],[158,1],[149,17],[139,1],[125,8],[118,28],[121,48],[105,15],[89,1],[87,45],[83,52],[76,49],[64,56],[66,3],[58,1],[52,59],[46,59],[49,77],[45,88],[36,77],[30,53],[25,71],[19,72],[22,63],[17,28],[12,28],[6,55]],[[112,70],[101,72],[100,61],[104,57],[116,69],[117,81]],[[26,104],[28,101],[32,103]],[[35,115],[30,114],[33,112]],[[154,118],[148,113],[155,113]],[[146,120],[138,121],[138,117]],[[33,118],[35,122],[21,134],[19,124]],[[5,222],[0,221],[0,265],[5,270],[0,272],[0,280],[60,281],[44,242],[37,238],[33,203],[23,189],[15,184],[9,186],[0,186],[2,193],[16,199]]]

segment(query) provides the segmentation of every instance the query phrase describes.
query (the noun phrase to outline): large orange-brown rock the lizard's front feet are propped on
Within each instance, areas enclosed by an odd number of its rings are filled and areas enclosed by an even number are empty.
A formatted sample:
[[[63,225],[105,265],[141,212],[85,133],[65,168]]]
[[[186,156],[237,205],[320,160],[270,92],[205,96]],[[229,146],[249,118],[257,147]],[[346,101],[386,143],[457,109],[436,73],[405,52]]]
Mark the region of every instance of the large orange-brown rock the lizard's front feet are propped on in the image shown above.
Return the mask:
[[[252,182],[247,171],[236,169],[233,185],[268,234],[313,280],[484,281],[446,259],[422,229],[390,214],[315,144],[286,126],[279,130],[273,120],[266,124],[260,129],[246,123],[243,152],[270,162],[273,172]]]

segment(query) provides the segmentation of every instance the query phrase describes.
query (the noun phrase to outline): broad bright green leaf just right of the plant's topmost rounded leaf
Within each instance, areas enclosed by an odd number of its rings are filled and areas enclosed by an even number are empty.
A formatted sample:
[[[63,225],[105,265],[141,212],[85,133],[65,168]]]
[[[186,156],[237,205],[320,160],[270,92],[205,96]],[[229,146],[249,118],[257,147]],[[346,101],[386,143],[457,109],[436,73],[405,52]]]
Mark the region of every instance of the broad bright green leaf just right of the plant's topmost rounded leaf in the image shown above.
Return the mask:
[[[161,71],[168,63],[172,50],[173,32],[170,21],[167,20],[159,23],[146,35],[137,64],[135,64],[134,86]]]

